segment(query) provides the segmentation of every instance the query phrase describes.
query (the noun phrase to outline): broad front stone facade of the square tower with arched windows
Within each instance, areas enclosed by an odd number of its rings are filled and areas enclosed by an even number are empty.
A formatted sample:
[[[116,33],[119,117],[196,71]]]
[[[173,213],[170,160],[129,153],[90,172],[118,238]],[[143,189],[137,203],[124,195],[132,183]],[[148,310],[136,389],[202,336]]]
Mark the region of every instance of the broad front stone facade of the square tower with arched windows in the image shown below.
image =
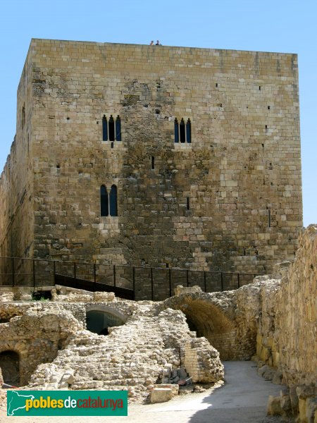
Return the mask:
[[[36,257],[251,273],[293,257],[296,55],[33,39],[29,61]],[[112,145],[104,114],[121,118]],[[174,142],[175,118],[192,143]],[[102,184],[118,216],[100,216]]]

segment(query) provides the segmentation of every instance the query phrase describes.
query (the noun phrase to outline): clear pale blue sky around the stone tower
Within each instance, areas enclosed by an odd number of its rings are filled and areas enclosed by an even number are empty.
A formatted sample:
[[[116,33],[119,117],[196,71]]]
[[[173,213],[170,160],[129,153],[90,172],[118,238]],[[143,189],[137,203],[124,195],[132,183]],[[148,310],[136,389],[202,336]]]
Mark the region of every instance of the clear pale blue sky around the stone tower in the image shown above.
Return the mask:
[[[317,223],[316,18],[316,0],[3,0],[0,171],[15,135],[16,90],[32,37],[297,53],[304,226]]]

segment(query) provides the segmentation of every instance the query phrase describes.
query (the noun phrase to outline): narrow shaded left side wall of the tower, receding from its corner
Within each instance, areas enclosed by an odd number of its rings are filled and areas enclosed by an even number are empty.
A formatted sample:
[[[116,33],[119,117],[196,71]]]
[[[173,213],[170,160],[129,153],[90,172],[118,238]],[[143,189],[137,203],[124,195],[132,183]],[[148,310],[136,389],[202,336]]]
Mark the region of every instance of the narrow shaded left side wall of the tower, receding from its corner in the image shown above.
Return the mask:
[[[16,135],[0,178],[0,257],[32,257],[34,196],[32,171],[32,64],[27,55],[18,86]],[[4,271],[10,263],[1,263]],[[21,273],[26,273],[21,272]]]

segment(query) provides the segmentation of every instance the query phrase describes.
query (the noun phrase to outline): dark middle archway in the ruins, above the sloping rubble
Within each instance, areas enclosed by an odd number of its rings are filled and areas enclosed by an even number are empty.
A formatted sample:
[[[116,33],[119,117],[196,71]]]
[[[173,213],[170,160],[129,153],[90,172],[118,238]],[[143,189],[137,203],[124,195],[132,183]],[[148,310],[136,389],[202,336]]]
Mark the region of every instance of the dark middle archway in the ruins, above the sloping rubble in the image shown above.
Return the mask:
[[[124,323],[123,318],[101,309],[90,309],[86,312],[87,330],[98,335],[108,335],[108,328],[121,326]]]

